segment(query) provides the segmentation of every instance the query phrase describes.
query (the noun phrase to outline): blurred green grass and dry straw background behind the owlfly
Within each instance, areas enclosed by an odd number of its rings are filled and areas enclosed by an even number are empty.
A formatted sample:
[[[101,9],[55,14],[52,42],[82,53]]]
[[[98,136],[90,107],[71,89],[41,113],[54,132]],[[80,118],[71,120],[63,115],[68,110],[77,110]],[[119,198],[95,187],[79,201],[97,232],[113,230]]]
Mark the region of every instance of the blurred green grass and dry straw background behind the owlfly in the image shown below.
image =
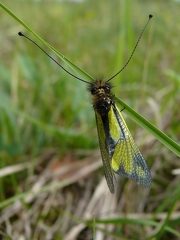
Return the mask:
[[[113,80],[113,90],[176,143],[180,141],[177,1],[1,3],[93,78],[109,78],[125,64],[153,14],[133,59]],[[153,185],[144,190],[116,176],[112,195],[104,180],[86,84],[18,37],[22,30],[74,73],[3,8],[0,11],[2,238],[179,239],[177,152],[126,118]]]

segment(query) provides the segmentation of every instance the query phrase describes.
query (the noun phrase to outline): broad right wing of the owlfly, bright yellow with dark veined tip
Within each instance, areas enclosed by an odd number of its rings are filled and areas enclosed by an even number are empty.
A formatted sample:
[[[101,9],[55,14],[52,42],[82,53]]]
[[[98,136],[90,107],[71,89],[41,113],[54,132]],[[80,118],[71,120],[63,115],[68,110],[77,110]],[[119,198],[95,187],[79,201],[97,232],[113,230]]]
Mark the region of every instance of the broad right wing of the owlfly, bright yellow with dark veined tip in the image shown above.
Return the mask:
[[[149,188],[152,182],[151,173],[131,136],[121,112],[116,106],[112,106],[109,114],[109,121],[110,118],[116,118],[113,132],[117,134],[117,131],[119,131],[119,139],[116,139],[116,146],[112,155],[113,170],[119,175],[131,178],[139,186]],[[113,132],[111,133],[112,136],[115,134]]]

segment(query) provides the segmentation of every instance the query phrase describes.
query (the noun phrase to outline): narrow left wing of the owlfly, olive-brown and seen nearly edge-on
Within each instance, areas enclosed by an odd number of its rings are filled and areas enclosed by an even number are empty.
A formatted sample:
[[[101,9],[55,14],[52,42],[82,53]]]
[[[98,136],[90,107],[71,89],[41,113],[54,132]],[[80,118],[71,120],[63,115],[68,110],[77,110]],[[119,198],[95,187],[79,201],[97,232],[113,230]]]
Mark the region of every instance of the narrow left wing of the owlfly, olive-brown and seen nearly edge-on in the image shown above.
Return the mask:
[[[105,175],[110,192],[114,193],[114,183],[113,183],[114,176],[111,168],[111,159],[110,159],[107,145],[106,145],[107,136],[105,134],[104,125],[103,125],[101,116],[96,111],[95,111],[95,116],[96,116],[97,131],[99,136],[99,146],[101,150],[101,156],[102,156],[103,167],[104,167],[104,175]]]

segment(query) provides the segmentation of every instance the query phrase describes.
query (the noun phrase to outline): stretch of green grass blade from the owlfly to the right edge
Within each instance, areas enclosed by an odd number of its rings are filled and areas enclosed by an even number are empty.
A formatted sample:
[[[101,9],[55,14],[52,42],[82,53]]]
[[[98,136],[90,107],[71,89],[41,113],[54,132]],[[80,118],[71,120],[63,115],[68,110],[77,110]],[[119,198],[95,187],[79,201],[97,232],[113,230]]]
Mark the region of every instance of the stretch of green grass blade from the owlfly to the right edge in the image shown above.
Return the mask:
[[[131,119],[133,119],[138,125],[151,133],[155,138],[157,138],[161,143],[163,143],[167,148],[174,152],[180,157],[180,146],[175,141],[173,141],[166,134],[157,129],[153,124],[148,122],[144,117],[135,112],[131,107],[125,104],[121,99],[116,97],[116,101],[122,108],[125,108],[125,112]]]

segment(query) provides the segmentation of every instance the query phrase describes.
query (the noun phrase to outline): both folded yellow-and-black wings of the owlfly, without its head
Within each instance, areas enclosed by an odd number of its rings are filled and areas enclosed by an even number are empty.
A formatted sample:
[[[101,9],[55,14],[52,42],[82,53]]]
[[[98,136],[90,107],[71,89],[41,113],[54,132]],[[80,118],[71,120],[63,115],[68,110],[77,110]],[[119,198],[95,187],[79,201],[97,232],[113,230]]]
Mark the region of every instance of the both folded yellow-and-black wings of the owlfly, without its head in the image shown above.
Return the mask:
[[[105,178],[111,193],[114,193],[112,170],[149,188],[151,173],[119,109],[112,104],[107,115],[101,116],[97,111],[95,115]]]

